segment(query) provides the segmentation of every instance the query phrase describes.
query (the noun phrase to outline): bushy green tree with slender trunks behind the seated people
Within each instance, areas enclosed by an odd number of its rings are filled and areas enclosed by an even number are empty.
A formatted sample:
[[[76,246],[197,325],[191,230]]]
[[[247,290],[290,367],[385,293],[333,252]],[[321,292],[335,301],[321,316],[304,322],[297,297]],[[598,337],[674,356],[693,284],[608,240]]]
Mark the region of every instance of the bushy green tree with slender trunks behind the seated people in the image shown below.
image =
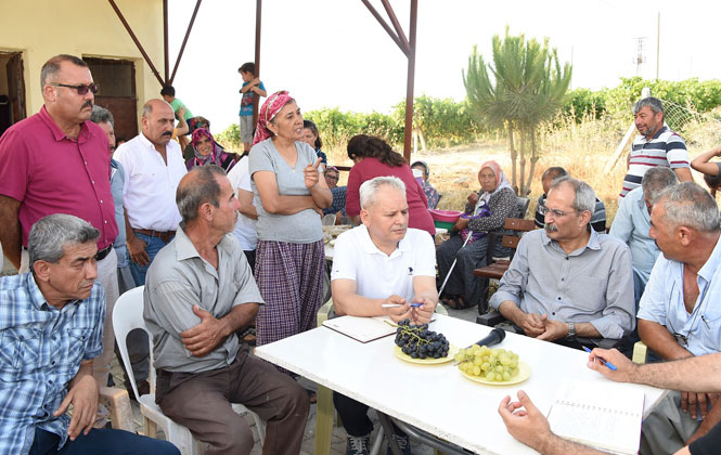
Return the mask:
[[[463,83],[468,103],[480,120],[505,129],[512,184],[518,195],[527,196],[539,159],[536,131],[563,107],[571,67],[568,63],[562,67],[556,50],[549,49],[548,39],[541,44],[536,39],[526,40],[524,35],[512,37],[507,27],[503,39],[498,35],[493,37],[492,49],[492,62],[487,64],[474,47],[468,70],[463,73]],[[529,152],[530,169],[526,174]]]

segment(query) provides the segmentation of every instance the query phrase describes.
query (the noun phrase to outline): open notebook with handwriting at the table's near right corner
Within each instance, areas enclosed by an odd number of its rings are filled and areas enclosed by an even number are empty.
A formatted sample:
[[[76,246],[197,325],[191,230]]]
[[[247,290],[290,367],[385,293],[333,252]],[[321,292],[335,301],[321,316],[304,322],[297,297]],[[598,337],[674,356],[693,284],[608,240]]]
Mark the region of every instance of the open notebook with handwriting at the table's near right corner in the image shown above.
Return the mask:
[[[633,385],[564,379],[549,412],[562,438],[622,454],[636,454],[643,391]]]

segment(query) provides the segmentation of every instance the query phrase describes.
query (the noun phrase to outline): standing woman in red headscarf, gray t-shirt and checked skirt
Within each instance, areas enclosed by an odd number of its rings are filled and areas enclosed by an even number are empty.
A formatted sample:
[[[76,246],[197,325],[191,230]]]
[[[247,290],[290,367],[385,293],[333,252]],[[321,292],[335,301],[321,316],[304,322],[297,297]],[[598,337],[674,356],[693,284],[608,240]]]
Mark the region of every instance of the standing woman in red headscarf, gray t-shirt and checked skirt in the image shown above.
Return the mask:
[[[273,93],[260,107],[253,144],[255,275],[266,301],[256,318],[260,346],[316,326],[325,263],[319,214],[333,196],[318,169],[321,158],[302,142],[302,115],[288,92]]]

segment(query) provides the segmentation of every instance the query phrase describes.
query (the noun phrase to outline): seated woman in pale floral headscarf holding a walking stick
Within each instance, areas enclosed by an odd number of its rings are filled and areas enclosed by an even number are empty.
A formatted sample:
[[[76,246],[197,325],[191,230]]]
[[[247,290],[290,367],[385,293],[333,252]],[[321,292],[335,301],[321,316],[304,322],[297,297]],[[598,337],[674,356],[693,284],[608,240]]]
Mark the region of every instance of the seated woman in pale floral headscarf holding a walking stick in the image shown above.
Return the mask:
[[[508,179],[495,161],[486,161],[478,171],[480,191],[468,195],[465,211],[451,229],[458,235],[443,242],[436,250],[440,283],[446,278],[453,260],[458,259],[443,288],[442,302],[454,309],[478,304],[487,281],[473,275],[474,269],[486,265],[488,233],[503,232],[507,217],[516,213],[518,198]],[[466,237],[468,243],[463,247]],[[507,248],[495,245],[495,256],[506,256]],[[488,308],[479,311],[485,313]]]

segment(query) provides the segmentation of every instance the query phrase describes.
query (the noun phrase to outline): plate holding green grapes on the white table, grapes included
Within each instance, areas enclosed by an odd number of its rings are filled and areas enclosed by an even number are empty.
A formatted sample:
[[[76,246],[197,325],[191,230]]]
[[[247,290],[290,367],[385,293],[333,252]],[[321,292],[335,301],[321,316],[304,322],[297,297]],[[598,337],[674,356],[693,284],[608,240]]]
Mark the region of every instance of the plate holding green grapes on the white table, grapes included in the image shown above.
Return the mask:
[[[490,386],[523,382],[531,375],[530,366],[519,361],[518,354],[505,349],[474,344],[460,350],[454,360],[464,377]]]

